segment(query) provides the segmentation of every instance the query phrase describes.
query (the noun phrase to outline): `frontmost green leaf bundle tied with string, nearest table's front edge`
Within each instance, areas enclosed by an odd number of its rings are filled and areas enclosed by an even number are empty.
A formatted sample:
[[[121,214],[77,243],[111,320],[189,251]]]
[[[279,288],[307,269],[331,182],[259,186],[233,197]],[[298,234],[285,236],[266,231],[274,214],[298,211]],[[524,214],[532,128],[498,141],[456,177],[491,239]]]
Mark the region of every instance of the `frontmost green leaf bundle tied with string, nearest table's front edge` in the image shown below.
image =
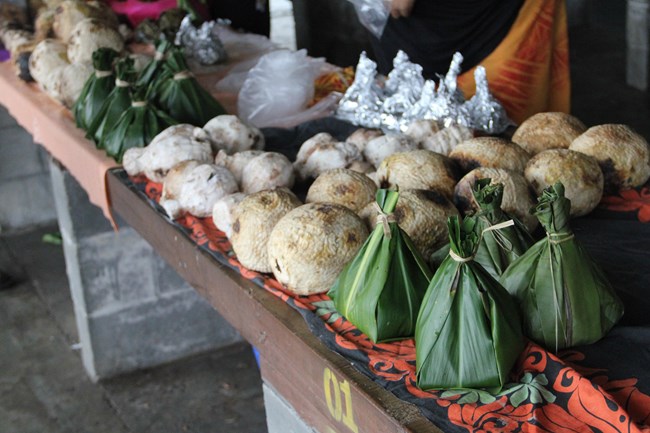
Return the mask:
[[[415,327],[417,385],[498,392],[524,348],[517,304],[472,260],[481,241],[473,218],[452,216],[447,224],[449,256],[429,284]]]

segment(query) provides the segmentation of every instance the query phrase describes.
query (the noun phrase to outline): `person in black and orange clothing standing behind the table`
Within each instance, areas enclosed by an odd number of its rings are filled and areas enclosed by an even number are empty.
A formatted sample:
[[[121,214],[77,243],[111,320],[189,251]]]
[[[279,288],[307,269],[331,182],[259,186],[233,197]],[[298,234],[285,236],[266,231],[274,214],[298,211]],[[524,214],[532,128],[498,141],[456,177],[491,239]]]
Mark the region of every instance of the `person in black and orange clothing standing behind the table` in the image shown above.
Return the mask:
[[[384,74],[400,49],[432,79],[460,52],[465,97],[475,92],[474,69],[484,66],[490,90],[516,123],[570,110],[564,0],[392,0],[381,38],[372,39]]]

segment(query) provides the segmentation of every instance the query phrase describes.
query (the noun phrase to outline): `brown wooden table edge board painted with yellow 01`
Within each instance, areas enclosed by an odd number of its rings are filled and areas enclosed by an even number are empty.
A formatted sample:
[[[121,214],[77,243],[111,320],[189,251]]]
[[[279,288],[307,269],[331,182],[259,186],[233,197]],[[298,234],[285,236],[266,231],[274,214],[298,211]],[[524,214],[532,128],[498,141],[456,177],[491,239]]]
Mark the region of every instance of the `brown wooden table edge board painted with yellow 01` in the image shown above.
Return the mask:
[[[262,377],[284,396],[304,421],[321,432],[442,432],[416,406],[383,389],[357,371],[350,361],[326,347],[311,333],[297,311],[218,263],[122,183],[114,174],[117,170],[109,170],[107,174],[113,210],[258,348]],[[328,380],[333,381],[337,389],[347,382],[348,396],[330,395],[328,398],[327,393],[332,392],[329,387],[324,389]],[[310,398],[319,394],[320,401]],[[343,401],[348,398],[354,404],[354,414],[346,413],[343,407],[341,416],[340,410],[336,413],[334,409],[348,404]]]

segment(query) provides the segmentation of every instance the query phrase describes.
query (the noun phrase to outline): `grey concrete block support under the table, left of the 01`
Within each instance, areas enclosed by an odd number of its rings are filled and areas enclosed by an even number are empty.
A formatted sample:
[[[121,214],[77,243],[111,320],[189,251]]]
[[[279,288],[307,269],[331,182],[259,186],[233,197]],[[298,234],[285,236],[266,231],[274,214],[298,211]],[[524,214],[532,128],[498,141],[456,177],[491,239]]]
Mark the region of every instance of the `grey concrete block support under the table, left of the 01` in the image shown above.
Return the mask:
[[[126,223],[113,231],[86,192],[50,165],[84,367],[115,376],[241,341]]]

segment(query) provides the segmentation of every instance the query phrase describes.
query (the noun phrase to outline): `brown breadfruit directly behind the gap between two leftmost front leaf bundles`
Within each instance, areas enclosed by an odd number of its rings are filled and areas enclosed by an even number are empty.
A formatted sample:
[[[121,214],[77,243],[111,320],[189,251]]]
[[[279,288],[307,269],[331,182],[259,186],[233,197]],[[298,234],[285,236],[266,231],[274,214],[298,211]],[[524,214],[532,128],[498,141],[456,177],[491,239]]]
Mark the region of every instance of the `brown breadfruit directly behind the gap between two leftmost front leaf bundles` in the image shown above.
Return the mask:
[[[400,190],[393,211],[397,224],[427,260],[449,241],[447,218],[452,215],[458,215],[458,209],[445,195],[424,189]],[[372,203],[359,216],[370,229],[377,225],[377,211]]]

